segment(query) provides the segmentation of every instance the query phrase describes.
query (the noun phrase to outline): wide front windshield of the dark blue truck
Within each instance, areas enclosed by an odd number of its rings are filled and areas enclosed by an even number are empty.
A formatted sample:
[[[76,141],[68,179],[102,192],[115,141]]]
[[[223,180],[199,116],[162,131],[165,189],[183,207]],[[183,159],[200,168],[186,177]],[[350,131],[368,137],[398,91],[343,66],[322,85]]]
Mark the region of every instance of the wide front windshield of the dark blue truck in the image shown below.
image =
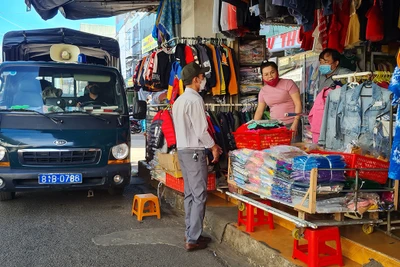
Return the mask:
[[[112,69],[83,69],[67,64],[6,66],[0,69],[0,77],[0,110],[76,115],[124,111],[123,88]]]

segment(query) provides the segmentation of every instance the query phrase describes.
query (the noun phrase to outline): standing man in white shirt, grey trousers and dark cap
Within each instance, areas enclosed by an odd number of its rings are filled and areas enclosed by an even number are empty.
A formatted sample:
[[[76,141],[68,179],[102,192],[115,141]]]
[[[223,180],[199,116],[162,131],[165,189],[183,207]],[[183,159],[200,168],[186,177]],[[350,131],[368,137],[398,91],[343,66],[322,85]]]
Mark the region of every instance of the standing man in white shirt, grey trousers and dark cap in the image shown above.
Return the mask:
[[[199,91],[204,89],[204,74],[209,67],[201,68],[192,62],[182,69],[181,77],[185,92],[178,97],[172,108],[179,164],[185,183],[185,248],[187,251],[204,249],[211,238],[202,236],[205,204],[207,200],[208,148],[217,162],[222,149],[208,133],[204,102]]]

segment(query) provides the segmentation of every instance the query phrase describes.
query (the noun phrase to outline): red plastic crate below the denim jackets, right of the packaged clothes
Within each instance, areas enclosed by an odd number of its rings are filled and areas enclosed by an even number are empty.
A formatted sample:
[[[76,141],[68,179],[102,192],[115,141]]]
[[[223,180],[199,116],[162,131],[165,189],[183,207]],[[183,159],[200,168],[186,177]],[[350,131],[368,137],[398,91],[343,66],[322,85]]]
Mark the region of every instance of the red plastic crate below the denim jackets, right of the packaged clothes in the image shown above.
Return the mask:
[[[357,154],[335,152],[335,151],[311,151],[310,154],[321,155],[342,155],[349,169],[387,169],[386,171],[359,171],[360,178],[371,180],[380,184],[385,184],[388,179],[389,162],[376,158],[370,158]],[[347,176],[356,177],[356,171],[348,171]]]

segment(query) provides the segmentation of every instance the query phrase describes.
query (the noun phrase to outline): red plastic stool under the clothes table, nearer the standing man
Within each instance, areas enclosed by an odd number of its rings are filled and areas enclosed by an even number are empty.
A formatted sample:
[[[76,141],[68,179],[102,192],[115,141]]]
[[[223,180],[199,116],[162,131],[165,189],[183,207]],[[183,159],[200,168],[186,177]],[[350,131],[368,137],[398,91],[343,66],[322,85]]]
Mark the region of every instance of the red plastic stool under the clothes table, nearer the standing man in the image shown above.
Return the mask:
[[[269,200],[259,200],[260,203],[271,206]],[[238,211],[238,226],[246,225],[246,232],[254,232],[254,227],[260,225],[269,225],[269,229],[275,229],[274,227],[274,216],[268,212],[265,215],[265,211],[254,207],[253,205],[246,203],[246,208]]]

